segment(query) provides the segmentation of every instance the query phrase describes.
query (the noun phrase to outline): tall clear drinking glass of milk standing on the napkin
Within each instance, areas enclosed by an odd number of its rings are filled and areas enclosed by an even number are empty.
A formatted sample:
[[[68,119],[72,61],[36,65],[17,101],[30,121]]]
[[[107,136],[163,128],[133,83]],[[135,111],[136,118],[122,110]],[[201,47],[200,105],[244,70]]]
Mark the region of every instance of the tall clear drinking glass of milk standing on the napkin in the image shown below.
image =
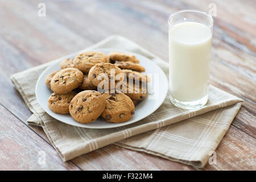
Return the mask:
[[[172,104],[197,109],[208,101],[213,18],[200,10],[171,14],[169,75]]]

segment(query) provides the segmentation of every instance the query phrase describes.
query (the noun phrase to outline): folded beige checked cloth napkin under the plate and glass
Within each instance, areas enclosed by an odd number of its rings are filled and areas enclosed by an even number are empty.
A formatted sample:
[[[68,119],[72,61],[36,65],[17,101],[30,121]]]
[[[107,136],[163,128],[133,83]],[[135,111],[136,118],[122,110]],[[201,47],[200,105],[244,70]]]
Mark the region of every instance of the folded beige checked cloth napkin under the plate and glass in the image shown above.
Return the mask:
[[[168,63],[122,36],[110,36],[86,49],[98,48],[122,48],[139,53],[155,61],[168,77]],[[36,100],[36,81],[40,73],[53,62],[15,73],[11,81],[33,113],[27,122],[43,127],[52,146],[64,161],[114,143],[194,167],[204,167],[242,103],[240,98],[210,85],[209,101],[201,109],[179,109],[171,104],[167,96],[158,110],[130,125],[113,129],[75,127],[49,116]]]

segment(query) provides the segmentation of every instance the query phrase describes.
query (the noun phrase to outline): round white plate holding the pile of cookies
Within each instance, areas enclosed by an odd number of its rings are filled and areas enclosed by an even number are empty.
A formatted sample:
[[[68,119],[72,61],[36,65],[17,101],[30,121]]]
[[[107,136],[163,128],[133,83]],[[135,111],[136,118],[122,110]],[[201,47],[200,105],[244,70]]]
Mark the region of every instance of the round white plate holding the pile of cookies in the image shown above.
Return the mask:
[[[148,96],[144,98],[144,100],[139,102],[139,104],[135,107],[135,114],[133,115],[133,117],[129,119],[129,121],[123,122],[123,123],[112,123],[112,122],[106,122],[103,119],[97,119],[92,123],[83,124],[75,121],[75,119],[73,119],[69,114],[53,113],[53,111],[49,109],[47,104],[47,100],[50,94],[52,93],[52,91],[46,86],[45,78],[49,73],[60,69],[61,60],[67,59],[68,57],[75,57],[78,53],[83,51],[84,50],[73,53],[68,56],[61,57],[60,59],[57,59],[55,63],[51,64],[48,68],[46,68],[42,72],[42,74],[38,78],[38,81],[36,82],[36,88],[35,88],[36,98],[39,104],[43,107],[44,111],[46,111],[46,113],[51,115],[53,118],[61,122],[67,123],[68,125],[86,127],[90,129],[107,129],[107,128],[125,126],[131,123],[140,121],[141,119],[153,113],[163,103],[164,98],[166,98],[166,94],[168,90],[168,81],[167,81],[166,75],[164,75],[164,72],[162,71],[162,69],[159,68],[158,65],[156,65],[151,60],[147,59],[142,55],[139,55],[138,53],[130,52],[133,55],[135,55],[139,59],[140,64],[143,65],[144,68],[146,68],[145,73],[148,74],[151,78],[150,84],[148,84],[148,91],[152,92],[152,90],[154,90],[154,93],[148,94]],[[117,50],[97,49],[97,51],[105,52],[108,54],[110,51],[117,51]],[[124,50],[119,50],[119,51],[129,52]]]

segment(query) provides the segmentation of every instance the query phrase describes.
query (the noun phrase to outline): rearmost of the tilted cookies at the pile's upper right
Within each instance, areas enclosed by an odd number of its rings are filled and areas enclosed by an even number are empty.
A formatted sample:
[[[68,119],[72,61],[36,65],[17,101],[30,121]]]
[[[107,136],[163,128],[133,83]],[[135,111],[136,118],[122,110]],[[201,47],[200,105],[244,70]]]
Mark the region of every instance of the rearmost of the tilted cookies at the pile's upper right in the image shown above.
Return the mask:
[[[114,61],[132,61],[134,63],[139,63],[139,60],[130,53],[122,53],[118,51],[110,52],[109,59],[111,62]]]

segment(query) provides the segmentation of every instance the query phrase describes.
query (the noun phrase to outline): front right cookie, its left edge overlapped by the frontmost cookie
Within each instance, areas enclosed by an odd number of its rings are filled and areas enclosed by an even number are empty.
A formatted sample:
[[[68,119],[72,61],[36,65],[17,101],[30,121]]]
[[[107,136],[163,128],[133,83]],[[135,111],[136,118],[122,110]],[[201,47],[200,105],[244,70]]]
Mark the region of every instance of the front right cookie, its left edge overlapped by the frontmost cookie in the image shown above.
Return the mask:
[[[106,107],[101,114],[106,121],[121,123],[128,121],[134,114],[134,104],[131,99],[121,92],[104,93]]]

